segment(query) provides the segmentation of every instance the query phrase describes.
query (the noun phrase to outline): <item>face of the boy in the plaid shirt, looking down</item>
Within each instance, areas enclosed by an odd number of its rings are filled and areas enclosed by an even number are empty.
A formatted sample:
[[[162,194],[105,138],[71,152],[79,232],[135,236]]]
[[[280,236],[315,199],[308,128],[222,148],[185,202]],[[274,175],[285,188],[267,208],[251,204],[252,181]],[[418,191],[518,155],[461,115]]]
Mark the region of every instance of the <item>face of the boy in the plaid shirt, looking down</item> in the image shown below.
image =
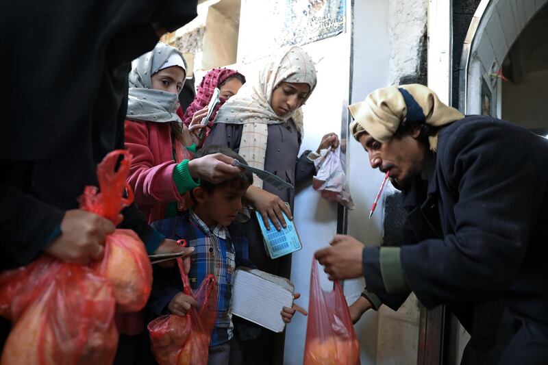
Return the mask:
[[[242,197],[248,187],[247,184],[245,186],[227,185],[210,193],[203,188],[195,188],[193,192],[197,200],[195,211],[208,226],[230,225],[236,219],[238,212],[242,210]]]

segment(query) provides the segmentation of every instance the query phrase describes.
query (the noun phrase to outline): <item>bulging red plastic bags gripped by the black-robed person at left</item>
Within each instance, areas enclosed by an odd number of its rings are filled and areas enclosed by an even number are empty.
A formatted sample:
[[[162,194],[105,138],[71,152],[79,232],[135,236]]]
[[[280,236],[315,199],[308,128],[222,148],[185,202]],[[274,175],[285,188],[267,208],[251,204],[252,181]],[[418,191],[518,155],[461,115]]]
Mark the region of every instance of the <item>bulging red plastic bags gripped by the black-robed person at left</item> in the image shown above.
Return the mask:
[[[121,155],[124,159],[114,171]],[[82,208],[119,223],[131,155],[109,153],[97,166],[97,188],[86,187]],[[118,332],[114,310],[140,310],[152,283],[145,245],[132,231],[107,237],[105,257],[87,266],[43,255],[26,267],[0,275],[0,315],[13,321],[1,364],[109,364]],[[94,268],[96,270],[94,270]],[[114,288],[114,290],[113,290]]]

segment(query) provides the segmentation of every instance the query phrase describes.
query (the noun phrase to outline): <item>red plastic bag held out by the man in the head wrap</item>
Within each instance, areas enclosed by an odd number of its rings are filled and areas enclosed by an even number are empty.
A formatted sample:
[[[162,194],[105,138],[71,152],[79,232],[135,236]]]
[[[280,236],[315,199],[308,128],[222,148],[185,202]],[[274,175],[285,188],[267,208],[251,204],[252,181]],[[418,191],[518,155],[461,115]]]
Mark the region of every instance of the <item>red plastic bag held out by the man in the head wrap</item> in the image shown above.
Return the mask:
[[[338,281],[334,286],[332,292],[321,288],[318,264],[312,259],[304,365],[360,364],[360,344],[343,288]]]

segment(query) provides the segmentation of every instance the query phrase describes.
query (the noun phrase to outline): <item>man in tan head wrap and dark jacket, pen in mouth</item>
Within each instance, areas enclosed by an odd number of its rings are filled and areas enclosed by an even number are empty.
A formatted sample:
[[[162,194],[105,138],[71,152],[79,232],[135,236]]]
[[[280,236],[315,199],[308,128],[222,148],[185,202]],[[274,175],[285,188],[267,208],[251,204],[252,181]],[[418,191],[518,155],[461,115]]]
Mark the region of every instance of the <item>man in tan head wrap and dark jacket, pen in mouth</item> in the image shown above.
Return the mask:
[[[375,90],[349,111],[351,133],[407,212],[401,247],[338,235],[316,252],[330,279],[364,276],[353,320],[382,304],[397,310],[412,291],[471,333],[462,364],[545,364],[548,141],[464,117],[421,85]]]

